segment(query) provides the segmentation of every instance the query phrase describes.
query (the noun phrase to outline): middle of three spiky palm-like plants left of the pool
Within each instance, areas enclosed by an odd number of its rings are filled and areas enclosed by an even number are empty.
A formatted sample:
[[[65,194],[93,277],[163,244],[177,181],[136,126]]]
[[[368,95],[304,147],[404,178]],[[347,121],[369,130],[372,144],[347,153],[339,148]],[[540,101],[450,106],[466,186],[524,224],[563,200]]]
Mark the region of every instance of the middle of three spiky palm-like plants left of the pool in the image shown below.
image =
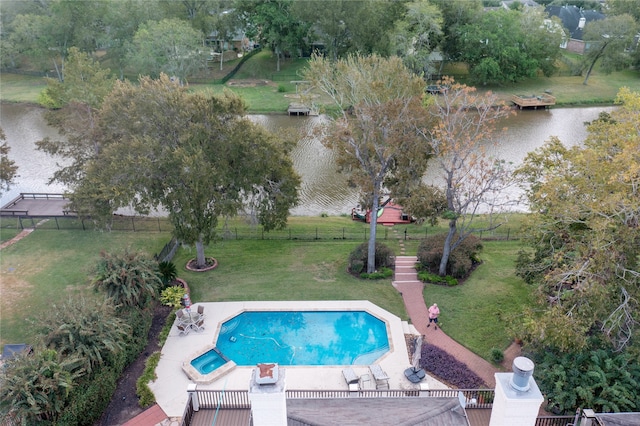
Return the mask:
[[[61,356],[80,358],[88,373],[123,351],[131,334],[131,328],[116,316],[106,299],[102,303],[77,299],[54,305],[41,327],[47,347]]]

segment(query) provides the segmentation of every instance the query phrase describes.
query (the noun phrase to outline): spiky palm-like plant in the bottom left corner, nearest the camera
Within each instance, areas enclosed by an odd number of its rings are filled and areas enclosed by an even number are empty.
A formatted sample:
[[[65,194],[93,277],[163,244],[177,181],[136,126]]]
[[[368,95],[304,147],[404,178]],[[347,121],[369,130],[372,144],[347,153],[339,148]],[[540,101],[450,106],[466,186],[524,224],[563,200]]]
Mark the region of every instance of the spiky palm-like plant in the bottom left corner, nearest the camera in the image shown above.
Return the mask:
[[[69,390],[81,374],[76,357],[61,357],[54,350],[38,350],[8,361],[0,370],[2,417],[22,424],[55,421],[62,413]]]

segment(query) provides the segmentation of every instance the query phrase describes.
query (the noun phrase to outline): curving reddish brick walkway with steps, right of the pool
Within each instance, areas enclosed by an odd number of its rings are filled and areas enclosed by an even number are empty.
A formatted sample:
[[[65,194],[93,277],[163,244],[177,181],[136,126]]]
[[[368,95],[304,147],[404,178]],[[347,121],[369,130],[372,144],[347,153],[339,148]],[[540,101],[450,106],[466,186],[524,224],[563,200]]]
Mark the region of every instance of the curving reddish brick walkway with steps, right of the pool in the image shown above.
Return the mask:
[[[427,328],[429,312],[423,296],[425,284],[418,280],[418,274],[414,267],[417,257],[404,255],[404,242],[395,229],[394,234],[399,239],[401,256],[396,256],[393,286],[402,295],[411,323],[420,334],[425,336],[427,342],[443,349],[458,361],[465,363],[469,369],[484,380],[489,388],[493,388],[496,384],[494,374],[503,371],[505,367],[510,368],[513,359],[520,356],[520,347],[512,344],[505,351],[505,360],[502,363],[503,368],[499,369],[447,336],[442,331],[442,328],[438,327],[438,330],[435,327]]]

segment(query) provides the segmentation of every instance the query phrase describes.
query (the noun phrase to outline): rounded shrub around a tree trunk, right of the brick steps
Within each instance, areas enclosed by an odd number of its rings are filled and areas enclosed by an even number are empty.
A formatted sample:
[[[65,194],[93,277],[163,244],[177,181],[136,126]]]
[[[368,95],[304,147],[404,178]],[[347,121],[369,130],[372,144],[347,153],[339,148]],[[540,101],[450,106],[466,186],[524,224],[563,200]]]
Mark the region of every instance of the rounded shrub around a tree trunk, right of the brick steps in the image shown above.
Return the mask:
[[[418,246],[419,270],[425,270],[437,274],[440,269],[442,250],[446,239],[445,234],[432,235],[422,240]],[[469,235],[458,247],[453,250],[447,263],[447,275],[453,278],[465,278],[475,265],[480,263],[478,252],[482,249],[480,239],[475,235]],[[452,284],[446,281],[447,285]]]

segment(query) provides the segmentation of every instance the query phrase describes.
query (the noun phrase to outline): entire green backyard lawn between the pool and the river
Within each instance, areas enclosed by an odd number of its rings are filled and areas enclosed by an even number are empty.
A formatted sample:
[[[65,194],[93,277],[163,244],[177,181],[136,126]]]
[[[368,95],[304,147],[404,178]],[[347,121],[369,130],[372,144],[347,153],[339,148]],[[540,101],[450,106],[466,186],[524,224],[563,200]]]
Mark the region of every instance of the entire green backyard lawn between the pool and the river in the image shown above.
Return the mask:
[[[513,216],[511,224],[516,225],[521,216]],[[245,237],[211,244],[207,256],[215,257],[219,266],[205,273],[184,268],[195,257],[195,249],[181,248],[174,262],[179,276],[189,283],[192,300],[370,300],[408,319],[391,280],[363,281],[346,271],[347,256],[365,240],[367,225],[347,217],[292,217],[290,227],[294,235],[305,239],[275,238],[273,234],[261,239],[257,228],[240,219],[231,221],[228,232]],[[415,226],[405,242],[407,254],[415,254],[425,233],[444,229],[442,225]],[[10,230],[2,231],[4,235]],[[362,239],[343,240],[343,231],[362,232]],[[321,239],[309,238],[316,233]],[[398,236],[403,232],[380,227],[379,238],[384,235],[384,242],[400,254]],[[153,254],[169,239],[168,233],[36,230],[3,249],[0,343],[34,342],[37,333],[30,320],[36,320],[40,312],[72,295],[95,297],[88,277],[102,250],[130,247]],[[486,242],[484,263],[466,283],[452,288],[429,286],[425,292],[426,303],[437,301],[442,306],[447,333],[484,357],[492,347],[505,348],[510,341],[498,313],[508,315],[518,309],[518,303],[528,300],[529,289],[513,275],[518,244]]]

